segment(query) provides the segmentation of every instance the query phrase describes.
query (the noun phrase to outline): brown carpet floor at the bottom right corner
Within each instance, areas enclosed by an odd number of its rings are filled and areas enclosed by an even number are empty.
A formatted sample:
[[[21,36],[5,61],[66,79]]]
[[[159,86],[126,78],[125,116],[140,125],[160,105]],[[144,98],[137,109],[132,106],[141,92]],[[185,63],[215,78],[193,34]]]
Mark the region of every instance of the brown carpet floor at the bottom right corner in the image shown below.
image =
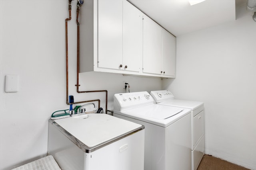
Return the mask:
[[[250,170],[226,160],[204,154],[197,170]]]

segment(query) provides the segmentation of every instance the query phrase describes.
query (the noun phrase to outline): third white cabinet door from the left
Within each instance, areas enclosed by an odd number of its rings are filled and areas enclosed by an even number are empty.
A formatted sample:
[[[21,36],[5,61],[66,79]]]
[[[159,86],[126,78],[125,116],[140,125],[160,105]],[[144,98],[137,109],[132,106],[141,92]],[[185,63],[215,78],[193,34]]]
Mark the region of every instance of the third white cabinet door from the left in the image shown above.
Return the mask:
[[[143,72],[161,74],[162,27],[143,16]]]

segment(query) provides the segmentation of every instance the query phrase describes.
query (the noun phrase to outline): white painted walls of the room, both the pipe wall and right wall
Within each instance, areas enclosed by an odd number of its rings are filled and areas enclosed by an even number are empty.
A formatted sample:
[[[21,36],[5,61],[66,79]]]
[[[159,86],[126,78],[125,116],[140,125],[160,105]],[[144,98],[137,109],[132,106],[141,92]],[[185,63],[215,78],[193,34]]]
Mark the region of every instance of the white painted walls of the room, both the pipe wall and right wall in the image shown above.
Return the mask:
[[[76,2],[69,22],[70,88],[75,101],[104,93],[77,94]],[[256,169],[256,23],[240,9],[236,21],[177,37],[177,78],[163,89],[176,98],[205,102],[206,153]],[[242,12],[243,11],[243,12]],[[65,22],[68,1],[0,0],[0,170],[47,154],[48,119],[67,109]],[[74,43],[74,44],[72,44]],[[6,93],[5,75],[20,76],[19,91]],[[80,90],[159,90],[159,78],[110,73],[80,74]]]

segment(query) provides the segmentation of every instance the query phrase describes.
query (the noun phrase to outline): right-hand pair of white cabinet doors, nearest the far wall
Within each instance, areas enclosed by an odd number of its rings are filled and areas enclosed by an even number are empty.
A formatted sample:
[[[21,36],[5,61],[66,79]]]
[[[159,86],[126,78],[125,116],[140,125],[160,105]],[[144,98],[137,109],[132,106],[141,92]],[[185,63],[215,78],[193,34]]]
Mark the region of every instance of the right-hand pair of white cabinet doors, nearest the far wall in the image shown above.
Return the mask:
[[[176,38],[147,16],[143,19],[143,73],[175,77]]]

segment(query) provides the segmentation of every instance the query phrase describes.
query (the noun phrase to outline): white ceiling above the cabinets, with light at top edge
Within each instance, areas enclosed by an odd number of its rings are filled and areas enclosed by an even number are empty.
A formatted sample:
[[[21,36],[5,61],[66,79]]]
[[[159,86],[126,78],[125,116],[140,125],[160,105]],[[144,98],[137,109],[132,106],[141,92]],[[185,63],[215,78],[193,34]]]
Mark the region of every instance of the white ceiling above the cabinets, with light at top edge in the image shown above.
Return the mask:
[[[235,0],[128,0],[175,36],[236,20]],[[246,2],[246,0],[239,0]]]

